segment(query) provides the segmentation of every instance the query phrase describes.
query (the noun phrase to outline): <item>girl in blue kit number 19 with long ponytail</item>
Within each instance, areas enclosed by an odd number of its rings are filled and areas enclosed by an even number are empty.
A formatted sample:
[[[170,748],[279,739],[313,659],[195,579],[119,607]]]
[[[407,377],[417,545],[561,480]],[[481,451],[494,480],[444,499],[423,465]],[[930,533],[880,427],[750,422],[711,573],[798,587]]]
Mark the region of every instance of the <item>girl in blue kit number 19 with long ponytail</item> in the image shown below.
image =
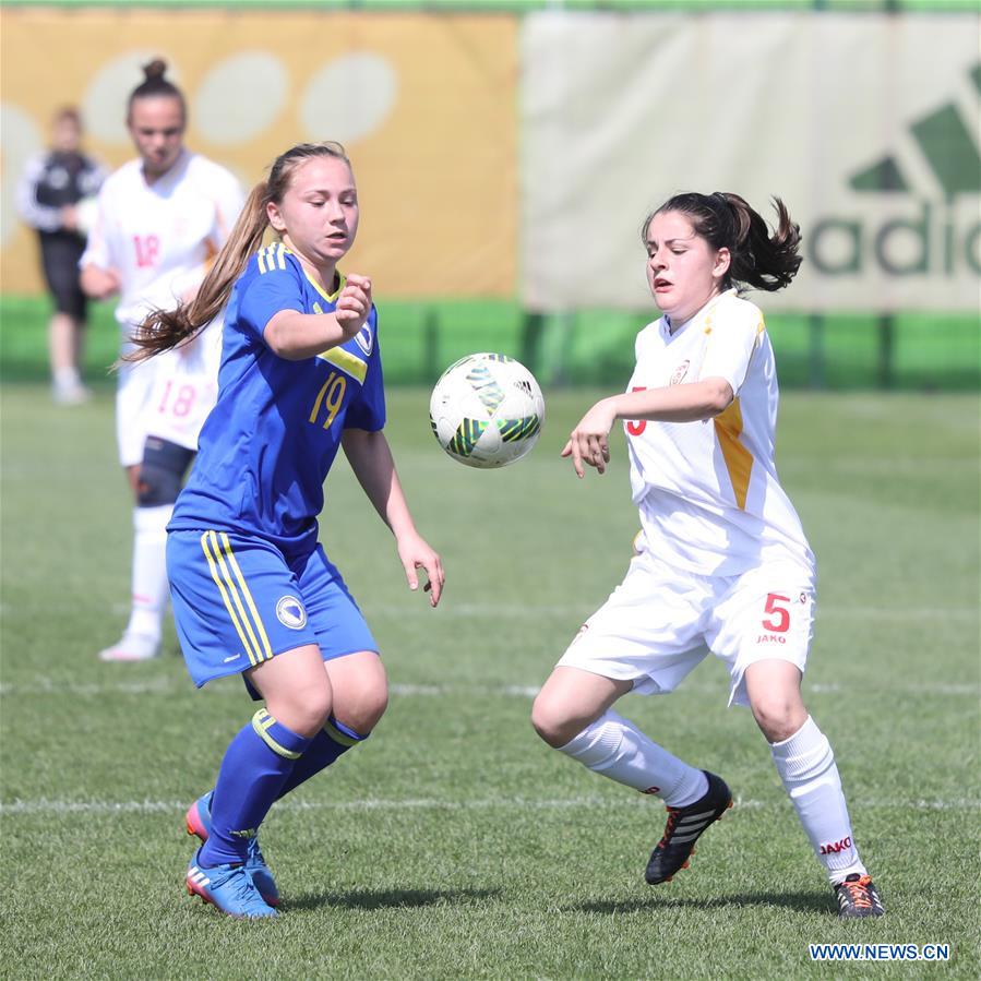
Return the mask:
[[[267,228],[278,241],[263,247]],[[227,303],[218,402],[168,526],[167,572],[194,683],[241,673],[265,702],[187,815],[203,842],[188,892],[234,917],[276,914],[256,837],[272,804],[362,742],[387,702],[378,645],[318,543],[338,447],[410,588],[423,570],[435,607],[443,587],[382,433],[371,282],[337,270],[357,230],[344,148],[295,146],[252,191],[193,302],[154,313],[135,338],[139,358],[178,347]]]

